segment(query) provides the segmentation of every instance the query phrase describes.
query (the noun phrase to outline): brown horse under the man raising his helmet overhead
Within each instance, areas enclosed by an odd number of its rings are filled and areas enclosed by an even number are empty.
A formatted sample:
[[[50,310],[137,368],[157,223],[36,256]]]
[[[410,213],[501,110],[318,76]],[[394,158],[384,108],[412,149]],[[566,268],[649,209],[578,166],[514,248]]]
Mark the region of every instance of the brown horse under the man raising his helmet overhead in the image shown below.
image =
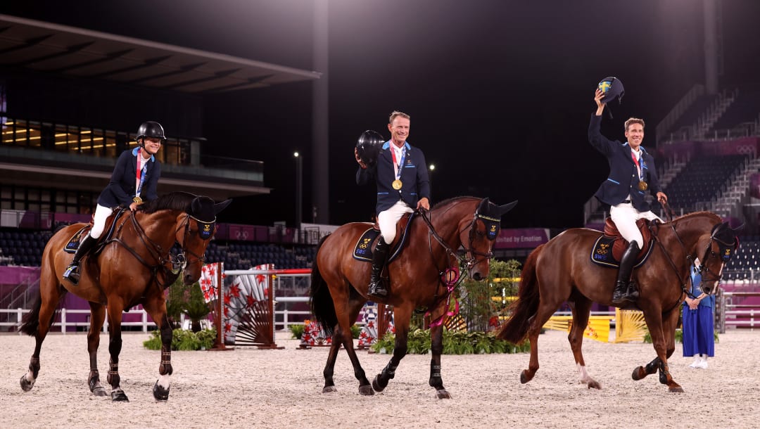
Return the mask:
[[[657,358],[636,367],[632,377],[641,380],[660,371],[660,383],[670,392],[682,392],[668,369],[667,358],[676,349],[676,324],[686,294],[689,272],[698,257],[701,261],[701,289],[714,293],[725,263],[738,246],[736,232],[714,213],[698,212],[673,222],[651,226],[655,240],[648,260],[635,270],[641,292],[636,301],[652,337]],[[525,261],[518,301],[511,317],[499,330],[499,338],[518,344],[530,339],[530,364],[522,371],[521,383],[532,380],[538,370],[538,335],[546,320],[568,301],[572,309],[572,329],[568,335],[581,383],[601,389],[591,378],[581,352],[583,331],[592,301],[612,305],[617,270],[591,262],[591,248],[601,232],[568,229],[536,248]]]

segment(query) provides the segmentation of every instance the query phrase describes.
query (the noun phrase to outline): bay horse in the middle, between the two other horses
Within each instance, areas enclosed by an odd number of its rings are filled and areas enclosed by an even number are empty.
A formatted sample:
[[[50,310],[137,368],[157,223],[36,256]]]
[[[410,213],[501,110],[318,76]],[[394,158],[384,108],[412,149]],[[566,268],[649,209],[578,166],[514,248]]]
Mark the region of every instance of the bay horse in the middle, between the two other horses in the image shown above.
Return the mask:
[[[353,248],[372,224],[347,223],[322,238],[312,266],[310,291],[312,313],[325,333],[332,334],[322,393],[336,391],[333,370],[340,345],[346,349],[353,374],[359,380],[359,393],[372,395],[384,390],[394,377],[401,358],[407,354],[407,334],[414,309],[428,308],[433,315],[444,313],[448,308],[448,294],[454,285],[454,281],[446,277],[451,274],[452,267],[458,274],[459,263],[464,263],[472,279],[481,280],[488,276],[489,259],[499,235],[501,217],[516,204],[514,201],[496,206],[488,198],[456,197],[442,201],[428,213],[423,212],[410,220],[412,223],[403,251],[386,267],[390,288],[385,303],[393,306],[396,323],[393,356],[372,381],[372,386],[356,357],[350,329],[369,300],[367,289],[372,265],[354,259]],[[460,246],[464,247],[464,257],[457,253]],[[442,333],[442,323],[432,323],[429,384],[440,399],[445,399],[451,396],[441,378]]]

